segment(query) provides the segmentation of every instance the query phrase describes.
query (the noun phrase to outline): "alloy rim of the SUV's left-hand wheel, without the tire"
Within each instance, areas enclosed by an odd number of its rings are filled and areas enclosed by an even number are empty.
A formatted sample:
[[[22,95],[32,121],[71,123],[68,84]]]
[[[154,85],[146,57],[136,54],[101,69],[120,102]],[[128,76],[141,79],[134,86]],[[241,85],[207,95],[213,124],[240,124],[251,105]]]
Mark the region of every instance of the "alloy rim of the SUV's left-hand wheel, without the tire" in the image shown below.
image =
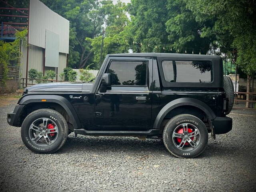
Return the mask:
[[[48,128],[48,125],[54,128]],[[38,146],[50,146],[58,138],[58,126],[49,118],[38,118],[29,127],[29,137]]]

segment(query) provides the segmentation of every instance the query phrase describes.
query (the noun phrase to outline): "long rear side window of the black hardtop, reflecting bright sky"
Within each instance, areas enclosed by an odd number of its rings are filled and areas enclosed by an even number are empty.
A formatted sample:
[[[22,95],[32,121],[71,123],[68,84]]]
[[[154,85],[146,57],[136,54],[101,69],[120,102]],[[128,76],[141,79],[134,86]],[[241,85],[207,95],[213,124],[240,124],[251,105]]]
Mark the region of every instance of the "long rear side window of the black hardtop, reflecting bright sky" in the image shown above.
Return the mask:
[[[164,79],[167,82],[212,82],[210,61],[162,61]]]

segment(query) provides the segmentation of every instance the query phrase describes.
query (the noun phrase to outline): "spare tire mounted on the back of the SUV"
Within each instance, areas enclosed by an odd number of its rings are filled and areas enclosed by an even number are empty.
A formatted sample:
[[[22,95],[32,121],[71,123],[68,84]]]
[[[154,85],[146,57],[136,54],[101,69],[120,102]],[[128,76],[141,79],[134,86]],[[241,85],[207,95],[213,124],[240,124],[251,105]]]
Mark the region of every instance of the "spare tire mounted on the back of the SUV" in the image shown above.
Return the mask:
[[[226,111],[226,115],[230,113],[234,104],[234,85],[230,77],[224,76],[223,78],[223,88],[226,92],[226,97],[228,98],[228,110]]]

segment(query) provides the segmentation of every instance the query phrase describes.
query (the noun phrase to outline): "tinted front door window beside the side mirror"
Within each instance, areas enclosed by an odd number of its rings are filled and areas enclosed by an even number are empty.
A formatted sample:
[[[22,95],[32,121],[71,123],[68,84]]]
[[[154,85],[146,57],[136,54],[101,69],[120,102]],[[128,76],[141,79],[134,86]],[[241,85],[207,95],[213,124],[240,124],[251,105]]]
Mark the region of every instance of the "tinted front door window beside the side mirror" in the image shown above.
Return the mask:
[[[113,61],[108,73],[112,85],[146,85],[148,63],[145,61]]]

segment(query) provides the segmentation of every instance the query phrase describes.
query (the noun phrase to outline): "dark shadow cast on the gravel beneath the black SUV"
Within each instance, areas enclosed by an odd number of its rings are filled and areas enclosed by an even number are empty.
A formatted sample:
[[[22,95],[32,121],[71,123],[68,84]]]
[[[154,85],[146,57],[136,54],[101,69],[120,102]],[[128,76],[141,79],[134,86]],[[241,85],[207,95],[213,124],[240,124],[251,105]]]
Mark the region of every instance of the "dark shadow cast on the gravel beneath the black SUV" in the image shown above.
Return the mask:
[[[223,148],[218,143],[210,141],[206,150],[197,158],[211,158],[213,156],[227,156],[227,154],[238,151],[234,146]],[[60,154],[72,153],[77,151],[84,151],[90,153],[104,153],[111,152],[120,153],[133,153],[142,154],[148,153],[155,155],[168,155],[170,154],[162,140],[159,139],[146,139],[145,141],[133,137],[92,137],[92,136],[69,136],[66,144],[57,152]],[[171,155],[170,155],[171,156]],[[174,156],[172,156],[174,157]]]

